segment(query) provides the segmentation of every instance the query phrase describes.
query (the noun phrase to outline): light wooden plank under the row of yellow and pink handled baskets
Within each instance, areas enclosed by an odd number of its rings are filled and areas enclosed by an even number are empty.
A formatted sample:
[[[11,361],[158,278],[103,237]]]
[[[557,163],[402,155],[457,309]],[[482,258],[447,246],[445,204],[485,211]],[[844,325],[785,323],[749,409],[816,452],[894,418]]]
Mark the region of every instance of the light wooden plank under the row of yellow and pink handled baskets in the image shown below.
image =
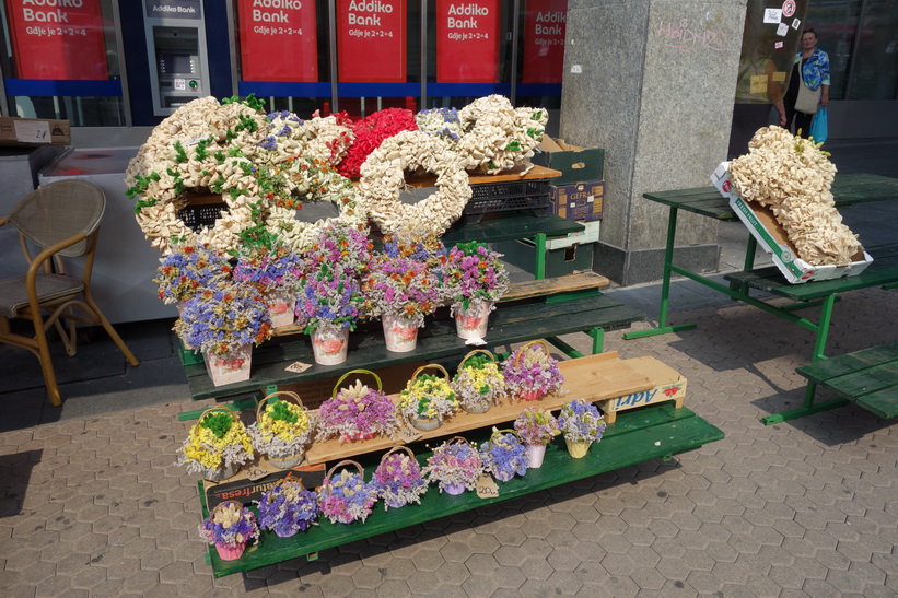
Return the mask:
[[[506,401],[491,408],[486,413],[458,411],[439,429],[421,432],[420,439],[453,436],[511,422],[528,407],[541,407],[549,411],[557,411],[573,399],[594,402],[631,392],[641,392],[653,386],[645,374],[627,361],[618,359],[617,353],[602,353],[562,361],[559,363],[559,368],[564,375],[564,392],[545,397],[538,401]],[[392,395],[389,398],[398,404],[399,395]],[[338,439],[315,442],[306,452],[305,460],[311,465],[334,462],[365,453],[385,450],[400,444],[403,443],[399,438],[393,439],[385,436],[352,443],[341,443]]]

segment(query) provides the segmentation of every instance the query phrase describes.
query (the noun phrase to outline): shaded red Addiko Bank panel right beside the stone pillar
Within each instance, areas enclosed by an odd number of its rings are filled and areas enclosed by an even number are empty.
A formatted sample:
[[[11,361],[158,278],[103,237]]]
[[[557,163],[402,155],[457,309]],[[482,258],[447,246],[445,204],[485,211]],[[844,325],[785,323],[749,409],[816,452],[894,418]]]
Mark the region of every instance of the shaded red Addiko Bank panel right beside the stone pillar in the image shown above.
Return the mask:
[[[527,0],[522,83],[561,83],[568,0]]]

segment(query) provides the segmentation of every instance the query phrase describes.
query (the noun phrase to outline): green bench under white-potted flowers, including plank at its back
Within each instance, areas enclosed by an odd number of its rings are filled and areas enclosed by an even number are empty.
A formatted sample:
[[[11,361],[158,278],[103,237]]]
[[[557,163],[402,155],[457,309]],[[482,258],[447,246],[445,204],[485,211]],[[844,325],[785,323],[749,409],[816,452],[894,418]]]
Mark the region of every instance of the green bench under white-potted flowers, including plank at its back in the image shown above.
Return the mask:
[[[593,353],[604,350],[606,329],[630,326],[645,318],[642,312],[603,295],[598,286],[607,279],[594,273],[572,274],[558,279],[528,281],[515,285],[490,316],[487,341],[501,347],[535,339],[552,341],[568,355],[582,353],[557,337],[586,332],[593,339]],[[592,280],[592,282],[590,282]],[[349,336],[347,361],[339,365],[314,364],[312,345],[305,335],[277,339],[253,352],[252,377],[245,383],[213,386],[201,357],[182,353],[190,395],[209,399],[243,395],[272,386],[340,376],[351,370],[373,370],[418,361],[439,361],[462,356],[473,348],[457,337],[455,321],[447,309],[429,318],[418,333],[418,347],[408,353],[386,350],[383,330],[377,323],[361,327]],[[302,373],[288,372],[294,362],[314,364]]]

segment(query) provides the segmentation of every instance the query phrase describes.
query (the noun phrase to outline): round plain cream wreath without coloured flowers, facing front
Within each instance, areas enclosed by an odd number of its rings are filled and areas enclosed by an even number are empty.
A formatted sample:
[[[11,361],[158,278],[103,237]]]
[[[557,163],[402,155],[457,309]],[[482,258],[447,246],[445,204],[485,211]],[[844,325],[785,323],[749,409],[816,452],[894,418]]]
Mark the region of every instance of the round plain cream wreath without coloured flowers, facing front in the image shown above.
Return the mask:
[[[439,189],[418,203],[403,203],[405,171],[419,167],[436,175]],[[471,197],[458,154],[423,131],[401,131],[384,140],[362,164],[361,175],[362,207],[384,233],[442,235]]]

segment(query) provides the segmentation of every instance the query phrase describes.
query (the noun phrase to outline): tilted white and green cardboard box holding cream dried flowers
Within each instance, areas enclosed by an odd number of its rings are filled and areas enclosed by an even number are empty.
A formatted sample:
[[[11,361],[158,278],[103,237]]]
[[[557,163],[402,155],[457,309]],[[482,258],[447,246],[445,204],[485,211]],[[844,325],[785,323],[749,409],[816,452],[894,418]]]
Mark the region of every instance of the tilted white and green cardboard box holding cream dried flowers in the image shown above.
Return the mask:
[[[800,284],[813,280],[831,280],[844,277],[854,277],[863,272],[873,262],[870,254],[859,250],[851,258],[848,266],[812,266],[797,256],[795,246],[789,241],[789,235],[770,209],[739,197],[730,178],[730,163],[722,162],[711,174],[711,181],[725,198],[730,199],[730,207],[751,232],[758,246],[767,251],[777,268],[792,284]]]

